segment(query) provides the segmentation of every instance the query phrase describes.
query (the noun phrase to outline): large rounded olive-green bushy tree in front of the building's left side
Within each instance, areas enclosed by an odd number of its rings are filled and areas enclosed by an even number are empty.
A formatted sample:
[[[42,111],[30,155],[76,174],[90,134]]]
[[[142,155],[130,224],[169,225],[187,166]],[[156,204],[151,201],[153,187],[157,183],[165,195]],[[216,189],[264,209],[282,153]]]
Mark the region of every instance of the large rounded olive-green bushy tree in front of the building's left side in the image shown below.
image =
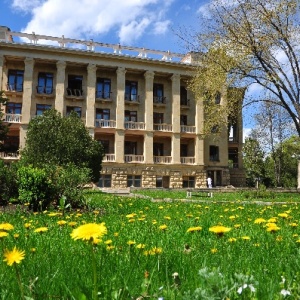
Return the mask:
[[[33,118],[28,125],[26,145],[21,150],[21,164],[43,168],[45,165],[91,170],[93,182],[100,177],[102,145],[93,140],[76,113],[62,117],[54,109]]]

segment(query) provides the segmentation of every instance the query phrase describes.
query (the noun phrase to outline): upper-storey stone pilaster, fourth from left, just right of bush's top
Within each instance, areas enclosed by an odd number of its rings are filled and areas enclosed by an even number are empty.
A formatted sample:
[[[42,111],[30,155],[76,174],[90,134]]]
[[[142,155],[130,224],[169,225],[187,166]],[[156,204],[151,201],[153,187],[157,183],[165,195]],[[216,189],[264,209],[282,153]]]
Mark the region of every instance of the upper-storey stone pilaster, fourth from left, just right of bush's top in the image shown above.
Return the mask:
[[[97,66],[89,64],[87,71],[86,126],[87,128],[94,128]]]

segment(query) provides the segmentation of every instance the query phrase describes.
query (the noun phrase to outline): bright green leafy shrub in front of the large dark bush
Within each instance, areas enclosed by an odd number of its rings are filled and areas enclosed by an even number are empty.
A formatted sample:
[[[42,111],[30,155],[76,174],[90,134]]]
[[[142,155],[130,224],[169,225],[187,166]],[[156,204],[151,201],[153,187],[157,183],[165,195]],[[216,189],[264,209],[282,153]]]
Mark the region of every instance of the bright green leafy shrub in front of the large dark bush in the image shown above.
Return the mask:
[[[19,200],[34,211],[44,210],[54,195],[51,177],[46,169],[21,166],[18,169]]]

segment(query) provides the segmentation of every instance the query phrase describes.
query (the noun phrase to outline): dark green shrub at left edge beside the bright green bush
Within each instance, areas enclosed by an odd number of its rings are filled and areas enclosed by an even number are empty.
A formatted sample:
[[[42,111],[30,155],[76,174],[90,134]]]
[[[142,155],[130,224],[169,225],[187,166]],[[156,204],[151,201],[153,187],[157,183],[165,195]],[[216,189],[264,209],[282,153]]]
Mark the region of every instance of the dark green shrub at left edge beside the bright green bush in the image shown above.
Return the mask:
[[[12,198],[18,196],[17,164],[4,164],[0,160],[0,202],[7,204]]]

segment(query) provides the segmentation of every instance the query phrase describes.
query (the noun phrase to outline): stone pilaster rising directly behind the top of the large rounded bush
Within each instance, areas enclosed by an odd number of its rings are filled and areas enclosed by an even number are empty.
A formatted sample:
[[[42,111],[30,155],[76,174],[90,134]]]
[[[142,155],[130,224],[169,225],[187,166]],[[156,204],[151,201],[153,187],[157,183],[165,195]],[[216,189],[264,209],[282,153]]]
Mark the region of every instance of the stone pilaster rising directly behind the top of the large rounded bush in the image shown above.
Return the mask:
[[[61,115],[64,115],[66,65],[66,62],[62,60],[56,63],[55,109],[60,112]]]

